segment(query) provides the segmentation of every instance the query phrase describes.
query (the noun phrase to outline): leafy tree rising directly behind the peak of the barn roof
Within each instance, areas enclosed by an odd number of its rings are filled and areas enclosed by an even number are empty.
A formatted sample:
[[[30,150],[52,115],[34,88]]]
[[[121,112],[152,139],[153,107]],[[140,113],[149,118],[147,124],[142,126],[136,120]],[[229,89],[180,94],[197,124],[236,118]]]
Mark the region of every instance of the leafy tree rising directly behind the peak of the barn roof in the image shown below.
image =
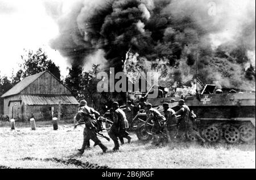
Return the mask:
[[[22,78],[43,72],[44,70],[49,70],[56,78],[60,79],[59,66],[56,66],[52,60],[48,60],[48,56],[42,48],[39,48],[36,52],[32,50],[25,51],[21,58],[23,62],[19,64],[20,69],[12,76],[14,85],[21,81]]]

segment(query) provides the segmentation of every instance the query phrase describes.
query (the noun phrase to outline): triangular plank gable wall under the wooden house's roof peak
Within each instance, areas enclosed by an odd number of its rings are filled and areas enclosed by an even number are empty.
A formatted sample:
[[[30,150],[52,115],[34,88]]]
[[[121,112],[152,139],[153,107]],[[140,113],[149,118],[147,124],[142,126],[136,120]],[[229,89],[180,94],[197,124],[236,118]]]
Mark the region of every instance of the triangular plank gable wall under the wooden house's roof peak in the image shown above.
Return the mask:
[[[20,94],[71,94],[71,91],[61,84],[50,73],[46,72],[41,77],[27,86]]]

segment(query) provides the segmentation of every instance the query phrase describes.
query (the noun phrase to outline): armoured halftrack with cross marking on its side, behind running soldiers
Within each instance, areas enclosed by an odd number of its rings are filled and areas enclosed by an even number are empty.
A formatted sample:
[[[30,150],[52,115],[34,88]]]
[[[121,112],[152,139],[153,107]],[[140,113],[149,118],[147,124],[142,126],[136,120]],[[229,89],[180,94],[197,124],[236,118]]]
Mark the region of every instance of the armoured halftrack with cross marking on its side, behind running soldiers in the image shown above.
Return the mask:
[[[174,102],[171,102],[172,101]],[[179,110],[179,99],[196,114],[196,131],[205,140],[228,143],[249,142],[255,139],[255,90],[237,93],[235,90],[223,93],[215,85],[205,85],[200,93],[181,95],[180,97],[159,97],[147,99],[156,110],[163,112],[163,103],[168,103],[175,111]],[[132,127],[136,129],[139,140],[150,140],[145,124],[146,113],[139,112],[133,119]],[[172,133],[172,129],[169,129]],[[187,133],[189,140],[196,137]]]

